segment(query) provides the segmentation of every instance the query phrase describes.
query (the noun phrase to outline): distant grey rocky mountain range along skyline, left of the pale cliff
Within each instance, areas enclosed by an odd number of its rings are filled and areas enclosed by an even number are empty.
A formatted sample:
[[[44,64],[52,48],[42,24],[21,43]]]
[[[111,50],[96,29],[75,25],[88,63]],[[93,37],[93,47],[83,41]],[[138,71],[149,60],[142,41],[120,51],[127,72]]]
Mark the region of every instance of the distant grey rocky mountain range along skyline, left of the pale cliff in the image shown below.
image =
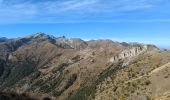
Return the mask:
[[[113,42],[111,40],[91,40],[91,41],[84,41],[79,38],[70,38],[67,39],[65,37],[54,37],[52,35],[47,35],[45,33],[36,33],[30,36],[26,36],[23,38],[16,38],[16,39],[7,39],[7,38],[0,38],[1,41],[6,43],[3,44],[13,44],[15,48],[18,48],[20,46],[31,44],[33,42],[50,42],[57,46],[63,47],[63,48],[72,48],[76,50],[82,50],[85,48],[123,48],[124,46],[121,43]],[[114,47],[116,46],[116,47]]]

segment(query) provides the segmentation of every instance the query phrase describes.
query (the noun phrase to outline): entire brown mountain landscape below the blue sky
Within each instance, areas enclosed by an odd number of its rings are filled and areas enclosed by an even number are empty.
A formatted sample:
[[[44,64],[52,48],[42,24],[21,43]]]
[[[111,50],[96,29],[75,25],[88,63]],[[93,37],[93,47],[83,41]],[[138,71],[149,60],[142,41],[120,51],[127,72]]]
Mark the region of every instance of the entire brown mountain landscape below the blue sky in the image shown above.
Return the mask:
[[[169,63],[170,51],[148,44],[44,33],[0,38],[0,92],[37,100],[168,100]]]

